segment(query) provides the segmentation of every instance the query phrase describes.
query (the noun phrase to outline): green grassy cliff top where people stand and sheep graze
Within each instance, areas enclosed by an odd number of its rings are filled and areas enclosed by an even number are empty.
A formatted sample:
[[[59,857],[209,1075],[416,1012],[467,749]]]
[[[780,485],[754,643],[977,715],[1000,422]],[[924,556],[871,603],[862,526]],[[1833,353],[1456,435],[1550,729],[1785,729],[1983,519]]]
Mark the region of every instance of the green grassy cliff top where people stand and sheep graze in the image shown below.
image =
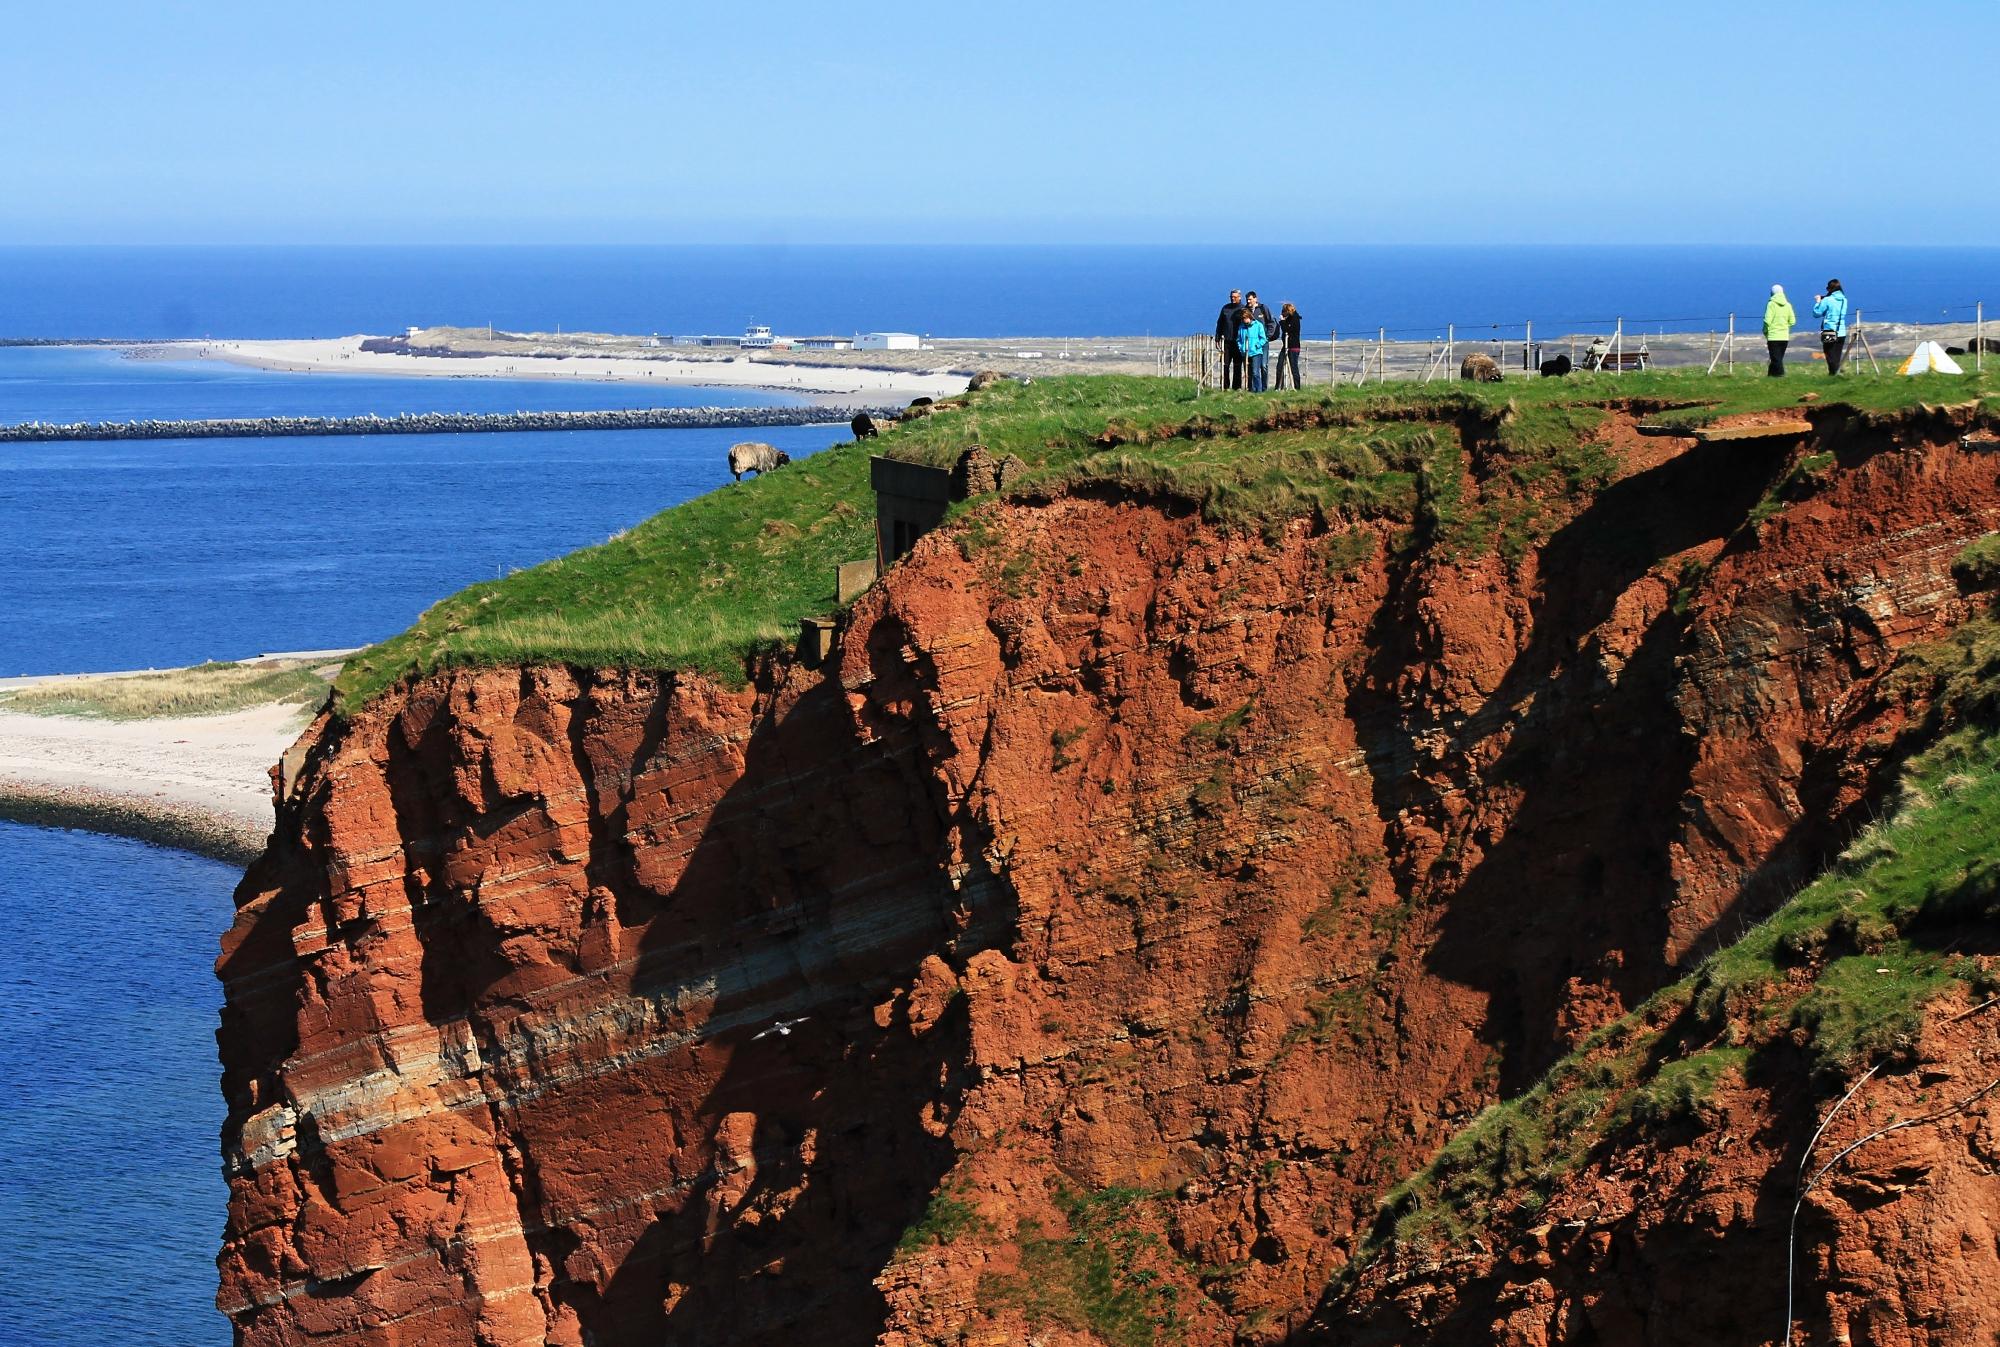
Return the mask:
[[[834,610],[836,564],[874,556],[870,454],[946,466],[984,444],[1028,464],[1014,492],[1110,482],[1180,498],[1216,522],[1270,528],[1304,514],[1410,518],[1426,468],[1436,480],[1456,480],[1438,472],[1446,464],[1436,456],[1456,456],[1458,436],[1438,428],[1468,416],[1492,424],[1524,484],[1560,474],[1564,490],[1588,492],[1608,468],[1588,432],[1610,404],[1690,408],[1678,416],[1700,420],[1796,408],[1808,392],[1820,394],[1820,406],[1984,400],[2000,412],[2000,362],[1962,378],[1656,372],[1264,396],[1196,394],[1182,380],[1124,376],[1000,384],[902,422],[878,442],[836,444],[768,478],[720,486],[598,548],[474,584],[348,662],[336,685],[340,709],[352,713],[402,677],[466,664],[700,670],[740,681],[756,648],[790,640],[800,618]],[[1310,424],[1286,428],[1288,418]],[[1468,546],[1534,542],[1522,520],[1468,516],[1458,524],[1448,534]]]

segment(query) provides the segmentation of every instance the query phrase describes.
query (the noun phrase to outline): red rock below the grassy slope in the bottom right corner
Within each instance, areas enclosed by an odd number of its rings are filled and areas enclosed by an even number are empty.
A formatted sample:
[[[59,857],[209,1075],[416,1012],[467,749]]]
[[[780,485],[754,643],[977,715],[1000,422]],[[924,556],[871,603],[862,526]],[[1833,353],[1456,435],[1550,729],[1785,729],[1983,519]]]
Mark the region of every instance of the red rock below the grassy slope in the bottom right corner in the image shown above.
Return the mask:
[[[1308,1343],[1798,1343],[2000,1339],[2000,1005],[1928,1007],[1906,1071],[1854,1099],[1804,1071],[1744,1081],[1702,1117],[1630,1137],[1450,1257],[1370,1265]],[[1838,1095],[1836,1095],[1838,1097]],[[1800,1157],[1828,1117],[1796,1239]]]

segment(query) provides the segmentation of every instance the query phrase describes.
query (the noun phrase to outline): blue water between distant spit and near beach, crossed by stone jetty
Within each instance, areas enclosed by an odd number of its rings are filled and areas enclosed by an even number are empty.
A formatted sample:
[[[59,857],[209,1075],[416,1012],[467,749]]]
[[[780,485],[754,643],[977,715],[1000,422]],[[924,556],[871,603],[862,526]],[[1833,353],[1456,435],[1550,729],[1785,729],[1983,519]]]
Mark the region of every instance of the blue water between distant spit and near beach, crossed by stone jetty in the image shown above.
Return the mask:
[[[670,394],[670,396],[662,396]],[[0,348],[0,422],[512,412],[762,394],[266,374]],[[0,677],[362,646],[728,482],[736,430],[0,446]],[[846,428],[772,428],[794,458]]]

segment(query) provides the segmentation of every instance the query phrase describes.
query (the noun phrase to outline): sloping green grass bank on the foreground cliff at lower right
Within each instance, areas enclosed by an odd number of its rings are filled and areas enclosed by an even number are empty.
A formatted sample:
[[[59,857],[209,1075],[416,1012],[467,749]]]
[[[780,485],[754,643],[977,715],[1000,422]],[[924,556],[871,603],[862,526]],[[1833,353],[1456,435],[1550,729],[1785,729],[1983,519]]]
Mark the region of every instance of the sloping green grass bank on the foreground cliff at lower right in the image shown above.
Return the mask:
[[[1486,1109],[1392,1189],[1356,1269],[1390,1239],[1454,1243],[1496,1213],[1536,1211],[1628,1131],[1698,1125],[1720,1083],[1764,1057],[1798,1061],[1836,1091],[1904,1059],[1932,997],[2000,987],[1988,963],[1950,951],[2000,921],[2000,618],[1906,652],[1890,689],[1928,707],[1930,747],[1906,765],[1888,813],[1770,919]]]

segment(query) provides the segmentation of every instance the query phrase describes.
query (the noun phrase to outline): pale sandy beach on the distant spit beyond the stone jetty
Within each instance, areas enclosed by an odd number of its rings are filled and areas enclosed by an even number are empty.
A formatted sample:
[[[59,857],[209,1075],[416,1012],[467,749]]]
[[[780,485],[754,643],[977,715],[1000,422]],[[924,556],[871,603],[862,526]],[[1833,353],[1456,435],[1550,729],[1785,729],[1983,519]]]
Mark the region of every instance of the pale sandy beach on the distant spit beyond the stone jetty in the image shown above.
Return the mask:
[[[850,364],[794,364],[750,356],[690,354],[462,354],[406,356],[364,352],[360,336],[290,342],[160,342],[148,354],[176,360],[226,360],[290,374],[390,374],[416,378],[560,380],[602,384],[660,384],[668,388],[750,388],[794,394],[812,402],[908,402],[948,398],[966,390],[966,376],[944,362],[922,370],[860,368]]]

